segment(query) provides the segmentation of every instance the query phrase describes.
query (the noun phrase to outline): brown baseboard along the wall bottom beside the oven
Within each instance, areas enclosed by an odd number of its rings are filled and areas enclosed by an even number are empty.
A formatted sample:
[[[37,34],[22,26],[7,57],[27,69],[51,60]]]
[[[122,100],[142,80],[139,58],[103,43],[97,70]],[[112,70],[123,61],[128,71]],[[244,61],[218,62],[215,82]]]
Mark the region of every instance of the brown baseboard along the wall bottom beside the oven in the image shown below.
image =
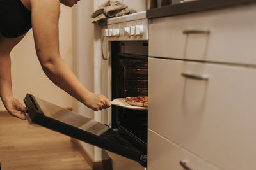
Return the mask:
[[[84,159],[89,164],[89,166],[92,168],[92,170],[112,170],[113,169],[112,161],[110,159],[94,162],[92,157],[90,157],[90,155],[86,152],[86,150],[84,150],[83,146],[77,139],[71,138],[71,141],[72,143],[74,143],[74,145],[77,146],[77,148],[79,148],[79,151],[81,152],[81,154],[83,155]]]

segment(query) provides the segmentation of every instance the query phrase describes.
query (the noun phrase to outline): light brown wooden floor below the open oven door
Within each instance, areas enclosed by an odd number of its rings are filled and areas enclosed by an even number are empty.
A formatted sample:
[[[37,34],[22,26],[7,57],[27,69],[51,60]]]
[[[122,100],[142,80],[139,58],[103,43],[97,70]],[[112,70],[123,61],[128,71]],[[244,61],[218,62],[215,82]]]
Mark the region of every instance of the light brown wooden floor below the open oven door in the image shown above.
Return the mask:
[[[0,112],[2,170],[91,170],[78,148],[63,134],[34,127]]]

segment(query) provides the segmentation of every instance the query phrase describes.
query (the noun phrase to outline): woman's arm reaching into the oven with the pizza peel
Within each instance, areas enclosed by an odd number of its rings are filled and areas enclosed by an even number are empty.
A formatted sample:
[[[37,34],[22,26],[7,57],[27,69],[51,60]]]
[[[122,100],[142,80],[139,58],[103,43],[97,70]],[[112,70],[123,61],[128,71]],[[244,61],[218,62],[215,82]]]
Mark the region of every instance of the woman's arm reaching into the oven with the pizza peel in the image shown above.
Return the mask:
[[[111,104],[105,96],[93,94],[77,79],[59,52],[59,0],[31,0],[32,27],[38,59],[48,78],[93,110]]]

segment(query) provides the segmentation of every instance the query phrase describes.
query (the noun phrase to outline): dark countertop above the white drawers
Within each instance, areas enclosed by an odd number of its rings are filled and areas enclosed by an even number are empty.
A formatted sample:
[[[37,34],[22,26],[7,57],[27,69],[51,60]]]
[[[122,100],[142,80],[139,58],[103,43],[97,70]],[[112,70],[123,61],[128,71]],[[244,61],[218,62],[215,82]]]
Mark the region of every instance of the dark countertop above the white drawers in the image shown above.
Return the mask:
[[[256,3],[256,0],[198,0],[147,10],[146,15],[147,18],[166,17],[250,3]]]

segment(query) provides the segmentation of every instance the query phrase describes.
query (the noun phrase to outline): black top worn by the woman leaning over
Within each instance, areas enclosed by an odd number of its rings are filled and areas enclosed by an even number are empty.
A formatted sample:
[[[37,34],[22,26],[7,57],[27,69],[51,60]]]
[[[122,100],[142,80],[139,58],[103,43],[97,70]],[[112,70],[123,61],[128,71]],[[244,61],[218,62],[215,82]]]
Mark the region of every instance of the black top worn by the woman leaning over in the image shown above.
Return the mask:
[[[31,11],[20,0],[0,0],[0,34],[15,38],[31,27]]]

